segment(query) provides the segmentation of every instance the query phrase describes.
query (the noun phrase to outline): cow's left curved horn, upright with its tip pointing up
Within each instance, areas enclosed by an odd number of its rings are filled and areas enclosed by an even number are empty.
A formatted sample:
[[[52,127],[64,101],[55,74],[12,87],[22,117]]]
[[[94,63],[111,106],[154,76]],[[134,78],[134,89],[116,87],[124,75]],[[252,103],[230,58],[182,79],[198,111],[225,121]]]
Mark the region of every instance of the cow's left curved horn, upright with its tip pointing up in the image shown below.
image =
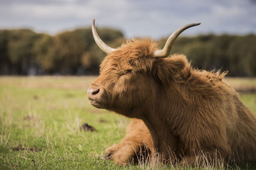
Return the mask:
[[[97,34],[97,31],[95,29],[95,19],[93,18],[92,21],[92,34],[93,34],[93,38],[96,42],[96,44],[99,46],[99,48],[106,53],[111,53],[114,52],[116,49],[115,48],[111,48],[110,46],[106,45],[99,37],[99,35]]]

